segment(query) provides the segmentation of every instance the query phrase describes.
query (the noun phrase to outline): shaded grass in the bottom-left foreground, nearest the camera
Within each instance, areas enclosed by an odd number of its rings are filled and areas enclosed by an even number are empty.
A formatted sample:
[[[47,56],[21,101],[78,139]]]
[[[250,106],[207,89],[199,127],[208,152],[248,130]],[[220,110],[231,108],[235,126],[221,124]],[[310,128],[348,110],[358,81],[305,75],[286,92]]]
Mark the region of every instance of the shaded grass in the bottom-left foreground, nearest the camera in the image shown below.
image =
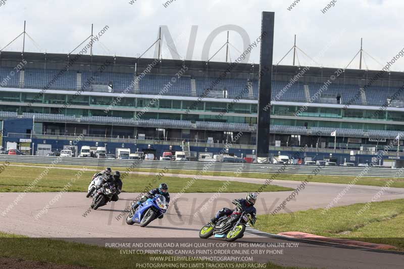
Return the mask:
[[[155,263],[150,260],[152,256],[147,254],[121,255],[119,249],[106,248],[81,243],[53,240],[46,238],[28,238],[19,235],[10,235],[0,232],[0,256],[34,260],[41,262],[53,262],[57,264],[69,264],[76,266],[93,266],[94,268],[136,268],[136,263]],[[160,262],[161,263],[161,262]],[[169,264],[191,264],[195,262],[170,261]],[[226,263],[197,262],[205,264],[204,267],[214,268],[212,264],[226,265]],[[297,267],[283,267],[272,262],[266,264],[270,269],[297,269]],[[169,267],[168,267],[169,268]],[[172,267],[174,268],[174,266]],[[184,267],[185,268],[185,267]],[[225,268],[224,266],[218,268]],[[252,267],[251,267],[252,268]]]

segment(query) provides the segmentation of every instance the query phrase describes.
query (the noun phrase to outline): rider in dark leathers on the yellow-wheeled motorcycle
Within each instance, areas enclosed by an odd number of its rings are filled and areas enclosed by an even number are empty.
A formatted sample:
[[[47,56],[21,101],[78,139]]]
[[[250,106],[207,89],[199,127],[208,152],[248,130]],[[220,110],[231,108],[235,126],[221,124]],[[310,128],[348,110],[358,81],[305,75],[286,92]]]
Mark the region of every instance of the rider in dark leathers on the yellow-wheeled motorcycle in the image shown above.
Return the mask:
[[[211,224],[215,225],[216,222],[223,216],[230,216],[237,208],[241,209],[242,211],[245,211],[246,213],[249,213],[251,215],[251,225],[254,225],[257,221],[257,210],[254,207],[254,204],[257,201],[257,193],[255,192],[250,192],[247,193],[245,196],[245,199],[235,199],[232,201],[234,205],[236,205],[236,208],[234,210],[231,210],[230,208],[223,207],[220,209],[215,218],[211,220]]]

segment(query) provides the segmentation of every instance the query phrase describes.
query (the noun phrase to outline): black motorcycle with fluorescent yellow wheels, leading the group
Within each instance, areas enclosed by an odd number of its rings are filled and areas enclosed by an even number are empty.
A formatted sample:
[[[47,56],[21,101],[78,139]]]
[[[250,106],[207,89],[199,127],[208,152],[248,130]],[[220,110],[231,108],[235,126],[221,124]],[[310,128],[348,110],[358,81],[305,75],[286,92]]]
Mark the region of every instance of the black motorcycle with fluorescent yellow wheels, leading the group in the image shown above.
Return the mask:
[[[212,235],[215,238],[226,238],[227,242],[233,242],[244,236],[245,227],[251,223],[251,214],[236,208],[230,216],[221,217],[215,225],[206,224],[199,231],[199,237],[207,239]]]

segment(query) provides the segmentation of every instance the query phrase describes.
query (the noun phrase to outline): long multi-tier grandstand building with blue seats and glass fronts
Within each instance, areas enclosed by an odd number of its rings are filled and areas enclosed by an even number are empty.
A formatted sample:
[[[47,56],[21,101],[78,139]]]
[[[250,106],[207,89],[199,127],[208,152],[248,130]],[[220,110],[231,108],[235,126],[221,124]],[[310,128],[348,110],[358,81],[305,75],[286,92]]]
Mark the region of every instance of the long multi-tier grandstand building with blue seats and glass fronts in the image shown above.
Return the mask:
[[[157,156],[183,150],[197,158],[227,143],[230,154],[255,154],[258,65],[73,58],[0,54],[5,149],[17,143],[37,154],[46,144],[60,151],[81,135],[78,150],[99,143],[112,153],[120,147]],[[272,72],[272,102],[261,108],[271,111],[271,154],[292,156],[307,146],[301,157],[332,153],[340,163],[370,163],[404,133],[401,72],[296,66],[273,66]],[[385,158],[402,155],[399,143]]]

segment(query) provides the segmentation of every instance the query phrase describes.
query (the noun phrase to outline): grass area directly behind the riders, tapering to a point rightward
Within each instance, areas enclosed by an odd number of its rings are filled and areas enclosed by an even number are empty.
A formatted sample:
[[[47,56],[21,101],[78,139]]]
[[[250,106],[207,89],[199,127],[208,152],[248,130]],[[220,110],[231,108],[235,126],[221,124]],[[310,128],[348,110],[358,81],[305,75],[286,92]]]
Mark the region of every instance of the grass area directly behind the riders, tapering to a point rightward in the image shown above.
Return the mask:
[[[58,192],[74,179],[74,183],[67,189],[68,191],[86,192],[91,176],[94,174],[92,171],[84,171],[81,177],[76,177],[77,170],[61,170],[49,169],[47,175],[38,181],[35,186],[30,189],[30,192]],[[16,167],[8,166],[2,172],[0,177],[0,192],[22,192],[29,184],[33,182],[41,173],[44,168],[42,167]],[[122,170],[121,170],[122,171]],[[161,172],[161,171],[159,171]],[[157,188],[161,182],[166,182],[170,187],[170,192],[181,191],[191,178],[167,177],[163,176],[161,179],[156,175],[134,175],[129,174],[123,179],[124,192],[142,192],[153,183],[151,186]],[[211,192],[215,193],[223,187],[225,181],[220,180],[196,180],[189,188],[184,189],[186,193],[194,192]],[[256,191],[261,187],[260,184],[243,183],[243,182],[230,182],[226,184],[226,188],[221,188],[222,192],[248,192]],[[268,185],[266,191],[290,191],[291,188],[280,187],[276,185]]]

